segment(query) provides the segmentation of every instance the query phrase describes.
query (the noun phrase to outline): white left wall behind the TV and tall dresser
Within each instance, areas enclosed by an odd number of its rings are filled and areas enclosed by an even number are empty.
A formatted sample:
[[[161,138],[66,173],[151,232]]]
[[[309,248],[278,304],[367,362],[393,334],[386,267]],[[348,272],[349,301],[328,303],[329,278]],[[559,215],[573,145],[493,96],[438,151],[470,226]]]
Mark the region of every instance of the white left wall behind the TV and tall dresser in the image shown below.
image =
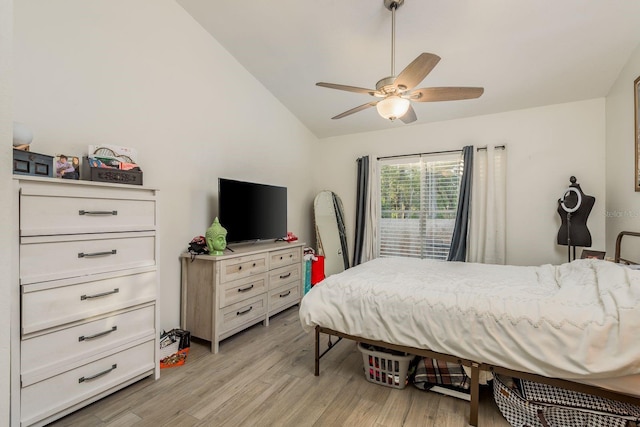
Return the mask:
[[[289,229],[309,241],[316,138],[174,1],[22,0],[14,28],[32,151],[135,147],[160,189],[162,328],[179,325],[178,257],[213,221],[218,177],[287,186]]]

